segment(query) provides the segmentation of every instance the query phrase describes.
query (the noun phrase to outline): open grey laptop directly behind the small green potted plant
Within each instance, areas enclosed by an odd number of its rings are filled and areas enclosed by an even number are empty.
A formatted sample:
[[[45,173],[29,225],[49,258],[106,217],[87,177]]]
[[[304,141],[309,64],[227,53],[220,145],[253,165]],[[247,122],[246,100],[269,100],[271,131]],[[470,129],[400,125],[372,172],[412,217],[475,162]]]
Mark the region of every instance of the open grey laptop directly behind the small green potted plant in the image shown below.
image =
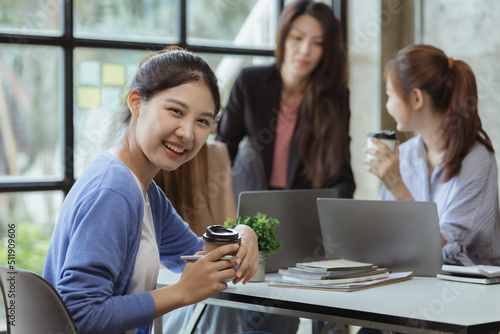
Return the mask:
[[[322,260],[325,252],[322,245],[316,199],[334,198],[335,189],[266,190],[243,191],[238,197],[238,216],[245,218],[261,212],[279,220],[276,235],[283,248],[269,254],[266,272],[277,272],[280,268],[297,262]]]

